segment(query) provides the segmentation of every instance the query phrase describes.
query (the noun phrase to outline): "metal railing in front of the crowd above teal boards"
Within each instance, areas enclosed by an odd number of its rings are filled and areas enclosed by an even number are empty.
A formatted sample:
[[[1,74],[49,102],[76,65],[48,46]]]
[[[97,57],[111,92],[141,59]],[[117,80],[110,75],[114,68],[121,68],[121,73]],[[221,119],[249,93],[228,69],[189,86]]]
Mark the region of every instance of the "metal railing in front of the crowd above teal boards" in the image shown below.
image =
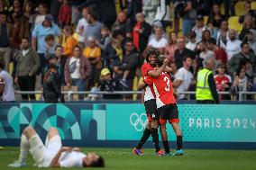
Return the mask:
[[[42,91],[15,91],[15,94],[42,94]],[[64,91],[62,94],[68,94],[69,101],[73,99],[74,94],[142,94],[142,91],[114,91],[114,92],[91,92],[91,91]],[[179,92],[178,94],[187,94],[188,101],[191,100],[191,95],[195,95],[195,91]],[[229,92],[218,92],[218,94],[230,94]],[[244,95],[256,94],[256,92],[236,92],[239,102],[243,101]]]

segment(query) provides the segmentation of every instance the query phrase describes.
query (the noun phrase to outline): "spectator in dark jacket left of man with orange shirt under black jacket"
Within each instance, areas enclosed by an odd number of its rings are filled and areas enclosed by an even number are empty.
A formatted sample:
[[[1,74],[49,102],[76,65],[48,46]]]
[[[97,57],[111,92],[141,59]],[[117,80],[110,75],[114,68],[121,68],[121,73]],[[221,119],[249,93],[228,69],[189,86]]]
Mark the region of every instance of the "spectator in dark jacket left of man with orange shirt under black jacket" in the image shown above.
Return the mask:
[[[126,32],[129,31],[129,22],[124,11],[118,13],[117,20],[112,25],[111,30],[121,30],[123,32],[123,37],[126,37]]]

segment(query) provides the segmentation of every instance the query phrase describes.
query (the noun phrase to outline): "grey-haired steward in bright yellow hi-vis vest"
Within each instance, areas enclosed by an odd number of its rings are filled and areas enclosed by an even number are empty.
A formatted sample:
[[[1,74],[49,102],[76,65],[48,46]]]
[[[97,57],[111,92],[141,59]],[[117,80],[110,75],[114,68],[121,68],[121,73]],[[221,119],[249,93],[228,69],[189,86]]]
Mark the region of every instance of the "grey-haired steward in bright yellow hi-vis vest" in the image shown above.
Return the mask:
[[[203,63],[204,68],[197,73],[197,103],[219,103],[212,72],[215,67],[215,58],[207,57]]]

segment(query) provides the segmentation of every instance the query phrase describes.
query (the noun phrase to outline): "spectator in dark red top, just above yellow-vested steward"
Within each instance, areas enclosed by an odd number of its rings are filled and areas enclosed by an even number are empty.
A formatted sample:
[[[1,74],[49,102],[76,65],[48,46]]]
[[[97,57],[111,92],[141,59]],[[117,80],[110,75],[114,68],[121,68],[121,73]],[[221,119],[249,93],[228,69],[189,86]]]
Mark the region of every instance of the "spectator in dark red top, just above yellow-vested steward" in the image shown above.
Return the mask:
[[[216,45],[216,40],[210,40],[208,43],[208,49],[214,51],[216,64],[223,64],[227,66],[227,54],[224,49]]]

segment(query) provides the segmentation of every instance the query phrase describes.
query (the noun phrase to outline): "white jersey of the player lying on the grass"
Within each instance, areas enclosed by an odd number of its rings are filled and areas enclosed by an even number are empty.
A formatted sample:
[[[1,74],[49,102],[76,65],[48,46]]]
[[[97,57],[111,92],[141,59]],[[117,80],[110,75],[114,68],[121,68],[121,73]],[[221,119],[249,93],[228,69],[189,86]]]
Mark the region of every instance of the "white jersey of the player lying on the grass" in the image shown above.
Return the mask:
[[[63,152],[59,157],[60,167],[83,167],[83,158],[87,157],[81,152]]]

